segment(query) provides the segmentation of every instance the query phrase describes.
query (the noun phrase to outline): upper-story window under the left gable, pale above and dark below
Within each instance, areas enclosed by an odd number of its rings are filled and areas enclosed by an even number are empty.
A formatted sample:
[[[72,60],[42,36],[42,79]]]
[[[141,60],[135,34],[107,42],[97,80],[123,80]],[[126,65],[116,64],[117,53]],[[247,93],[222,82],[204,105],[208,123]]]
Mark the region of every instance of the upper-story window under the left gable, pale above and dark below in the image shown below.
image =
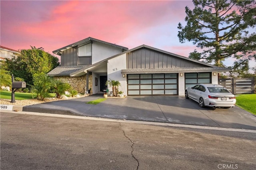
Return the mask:
[[[78,65],[92,64],[92,44],[78,47]]]

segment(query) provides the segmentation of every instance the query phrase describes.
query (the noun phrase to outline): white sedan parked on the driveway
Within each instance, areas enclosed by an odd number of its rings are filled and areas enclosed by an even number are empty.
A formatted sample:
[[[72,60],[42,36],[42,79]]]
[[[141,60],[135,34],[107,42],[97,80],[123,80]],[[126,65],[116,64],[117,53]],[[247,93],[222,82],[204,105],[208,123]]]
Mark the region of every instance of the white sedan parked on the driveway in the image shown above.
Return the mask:
[[[194,87],[186,88],[185,97],[198,102],[200,107],[229,108],[236,104],[234,94],[218,84],[196,84]]]

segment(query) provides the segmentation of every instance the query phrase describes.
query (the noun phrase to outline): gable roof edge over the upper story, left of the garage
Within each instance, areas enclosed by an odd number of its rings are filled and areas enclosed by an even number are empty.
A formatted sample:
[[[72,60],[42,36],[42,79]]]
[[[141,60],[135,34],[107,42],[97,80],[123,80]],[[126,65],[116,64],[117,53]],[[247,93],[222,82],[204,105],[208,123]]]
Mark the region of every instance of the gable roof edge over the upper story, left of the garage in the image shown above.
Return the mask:
[[[85,45],[85,44],[88,44],[88,43],[92,43],[93,41],[97,41],[97,42],[104,43],[104,44],[107,44],[107,45],[110,45],[110,46],[113,46],[113,47],[117,47],[117,48],[122,49],[123,51],[128,50],[127,47],[123,47],[123,46],[120,46],[120,45],[116,45],[116,44],[113,44],[113,43],[108,43],[106,41],[102,41],[102,40],[99,40],[99,39],[88,37],[86,39],[82,39],[80,41],[77,41],[76,43],[72,43],[72,44],[67,45],[65,47],[62,47],[60,49],[54,50],[54,51],[52,51],[52,53],[57,54],[57,55],[61,55],[62,51],[66,50],[66,49],[70,49],[70,48],[72,48],[74,46],[77,46],[77,45]]]

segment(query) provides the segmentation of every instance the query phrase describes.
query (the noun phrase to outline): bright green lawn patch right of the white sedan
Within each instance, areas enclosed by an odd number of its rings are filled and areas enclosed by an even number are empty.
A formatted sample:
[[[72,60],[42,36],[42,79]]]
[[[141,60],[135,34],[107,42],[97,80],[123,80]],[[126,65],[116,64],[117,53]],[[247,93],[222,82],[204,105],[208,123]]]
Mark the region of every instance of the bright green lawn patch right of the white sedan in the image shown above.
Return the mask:
[[[236,96],[236,105],[256,115],[256,94],[240,94]]]

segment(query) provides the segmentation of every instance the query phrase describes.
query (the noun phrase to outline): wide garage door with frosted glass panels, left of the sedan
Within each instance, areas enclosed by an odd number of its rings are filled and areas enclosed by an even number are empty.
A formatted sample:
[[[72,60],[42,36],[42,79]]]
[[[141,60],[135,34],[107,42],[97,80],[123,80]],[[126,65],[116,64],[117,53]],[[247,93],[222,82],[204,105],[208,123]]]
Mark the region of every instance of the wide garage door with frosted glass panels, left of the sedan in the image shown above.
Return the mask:
[[[178,74],[128,74],[128,95],[178,95]]]

